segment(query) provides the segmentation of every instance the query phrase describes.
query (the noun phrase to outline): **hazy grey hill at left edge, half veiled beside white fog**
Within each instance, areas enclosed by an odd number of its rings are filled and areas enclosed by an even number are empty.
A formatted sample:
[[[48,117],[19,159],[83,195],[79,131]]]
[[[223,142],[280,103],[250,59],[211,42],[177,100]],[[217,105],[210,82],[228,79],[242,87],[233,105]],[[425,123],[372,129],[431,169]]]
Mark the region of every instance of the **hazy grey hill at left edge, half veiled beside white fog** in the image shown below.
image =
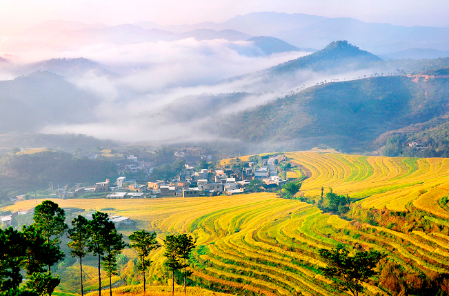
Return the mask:
[[[0,81],[0,132],[90,121],[97,103],[97,97],[52,72]]]

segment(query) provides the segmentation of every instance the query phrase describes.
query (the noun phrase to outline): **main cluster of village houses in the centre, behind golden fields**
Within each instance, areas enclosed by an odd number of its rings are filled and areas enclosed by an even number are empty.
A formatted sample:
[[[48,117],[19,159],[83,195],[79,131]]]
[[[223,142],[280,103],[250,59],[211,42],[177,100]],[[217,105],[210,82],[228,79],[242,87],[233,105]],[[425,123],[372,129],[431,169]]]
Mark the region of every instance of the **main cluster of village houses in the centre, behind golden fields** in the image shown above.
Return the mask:
[[[179,152],[177,157],[183,157]],[[135,199],[157,197],[200,197],[216,195],[236,195],[248,192],[251,181],[259,180],[261,190],[276,188],[286,183],[277,175],[277,168],[273,164],[277,157],[262,162],[259,167],[252,161],[241,161],[241,167],[224,165],[219,169],[201,168],[185,164],[172,179],[138,182],[126,176],[118,177],[115,181],[106,179],[94,186],[82,187],[77,184],[74,191],[57,190],[63,197],[79,197],[86,193],[104,193],[106,199]],[[207,159],[207,157],[206,157]],[[119,168],[136,173],[139,171],[150,174],[154,168],[144,161],[139,161],[134,155],[127,157],[128,163]],[[270,164],[271,163],[271,164]],[[255,182],[253,182],[255,184]]]

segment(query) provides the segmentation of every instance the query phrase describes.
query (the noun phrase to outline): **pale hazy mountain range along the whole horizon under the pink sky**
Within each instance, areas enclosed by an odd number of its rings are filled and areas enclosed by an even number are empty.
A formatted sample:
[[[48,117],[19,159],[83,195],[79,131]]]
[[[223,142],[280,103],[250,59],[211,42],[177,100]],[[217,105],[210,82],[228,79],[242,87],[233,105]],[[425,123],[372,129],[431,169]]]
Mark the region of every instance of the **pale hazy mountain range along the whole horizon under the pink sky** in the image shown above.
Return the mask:
[[[329,18],[309,14],[252,12],[222,23],[205,22],[160,26],[150,21],[106,26],[67,21],[46,21],[23,32],[24,36],[57,36],[70,42],[109,41],[135,43],[174,41],[184,38],[248,40],[267,36],[281,39],[297,48],[323,48],[335,40],[348,40],[376,55],[407,58],[403,50],[439,50],[447,57],[449,28],[395,26],[366,23],[351,18]],[[399,52],[399,53],[398,53]]]

